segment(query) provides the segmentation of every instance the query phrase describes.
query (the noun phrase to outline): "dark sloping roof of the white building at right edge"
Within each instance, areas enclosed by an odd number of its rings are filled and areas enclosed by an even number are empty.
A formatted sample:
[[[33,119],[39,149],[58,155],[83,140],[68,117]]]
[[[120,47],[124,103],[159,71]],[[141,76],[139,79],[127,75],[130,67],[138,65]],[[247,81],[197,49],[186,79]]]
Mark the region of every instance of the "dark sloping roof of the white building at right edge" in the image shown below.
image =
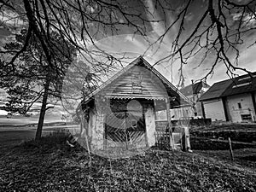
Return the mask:
[[[256,73],[252,73],[252,77],[246,74],[234,79],[226,79],[213,84],[212,87],[200,97],[199,101],[210,100],[223,96],[233,96],[254,90],[256,90]]]

